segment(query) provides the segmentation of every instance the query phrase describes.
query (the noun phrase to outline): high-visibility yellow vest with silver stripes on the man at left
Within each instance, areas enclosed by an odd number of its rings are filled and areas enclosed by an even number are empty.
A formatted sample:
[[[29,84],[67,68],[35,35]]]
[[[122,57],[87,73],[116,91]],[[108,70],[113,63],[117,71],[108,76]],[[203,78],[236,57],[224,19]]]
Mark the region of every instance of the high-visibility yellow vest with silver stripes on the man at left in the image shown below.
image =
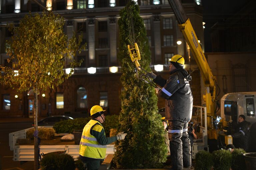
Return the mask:
[[[107,145],[101,145],[95,138],[95,136],[91,135],[90,130],[96,124],[100,124],[98,121],[90,120],[84,127],[80,146],[79,146],[79,154],[81,156],[94,158],[94,159],[105,159]],[[93,130],[101,132],[104,129],[103,126],[97,126],[93,128]],[[105,132],[104,132],[105,135]]]

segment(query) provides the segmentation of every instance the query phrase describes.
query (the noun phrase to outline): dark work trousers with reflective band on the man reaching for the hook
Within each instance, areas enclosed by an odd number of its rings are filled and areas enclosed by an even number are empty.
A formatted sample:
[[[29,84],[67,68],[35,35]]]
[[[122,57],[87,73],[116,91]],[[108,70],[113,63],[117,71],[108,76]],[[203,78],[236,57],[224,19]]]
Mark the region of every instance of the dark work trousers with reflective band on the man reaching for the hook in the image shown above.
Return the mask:
[[[191,146],[188,137],[188,123],[169,121],[169,139],[172,169],[182,170],[191,166]]]

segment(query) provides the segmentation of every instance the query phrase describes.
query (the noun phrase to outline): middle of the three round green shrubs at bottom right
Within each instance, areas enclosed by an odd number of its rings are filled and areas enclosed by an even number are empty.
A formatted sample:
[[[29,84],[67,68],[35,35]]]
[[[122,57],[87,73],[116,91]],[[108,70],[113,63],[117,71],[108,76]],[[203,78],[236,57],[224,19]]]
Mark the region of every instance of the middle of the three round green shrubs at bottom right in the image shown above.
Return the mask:
[[[212,153],[214,170],[229,170],[231,166],[232,156],[229,150],[216,150]]]

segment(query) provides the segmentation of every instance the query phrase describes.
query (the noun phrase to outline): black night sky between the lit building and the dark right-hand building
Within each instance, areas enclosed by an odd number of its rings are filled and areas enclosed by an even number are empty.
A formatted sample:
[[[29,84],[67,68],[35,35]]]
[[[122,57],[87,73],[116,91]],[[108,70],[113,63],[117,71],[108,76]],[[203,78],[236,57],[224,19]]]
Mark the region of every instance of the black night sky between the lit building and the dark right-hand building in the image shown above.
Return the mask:
[[[239,9],[243,7],[245,3],[250,0],[203,0],[204,7],[203,21],[205,24],[204,40],[205,40],[205,52],[212,52],[211,47],[211,27],[216,22],[223,22],[229,17],[233,17]],[[225,24],[223,23],[223,26]]]

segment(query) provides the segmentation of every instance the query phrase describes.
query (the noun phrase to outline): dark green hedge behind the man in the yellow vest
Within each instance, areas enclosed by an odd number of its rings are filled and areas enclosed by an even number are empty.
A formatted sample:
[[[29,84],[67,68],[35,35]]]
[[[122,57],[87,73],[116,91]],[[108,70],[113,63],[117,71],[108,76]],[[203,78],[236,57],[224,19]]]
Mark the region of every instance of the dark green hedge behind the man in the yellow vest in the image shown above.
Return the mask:
[[[105,129],[106,136],[109,136],[109,131],[111,128],[118,128],[119,121],[118,115],[106,116],[105,122],[102,126]],[[91,118],[77,118],[74,120],[65,120],[57,122],[53,128],[56,133],[72,133],[74,130],[83,130],[84,126],[91,120]]]

